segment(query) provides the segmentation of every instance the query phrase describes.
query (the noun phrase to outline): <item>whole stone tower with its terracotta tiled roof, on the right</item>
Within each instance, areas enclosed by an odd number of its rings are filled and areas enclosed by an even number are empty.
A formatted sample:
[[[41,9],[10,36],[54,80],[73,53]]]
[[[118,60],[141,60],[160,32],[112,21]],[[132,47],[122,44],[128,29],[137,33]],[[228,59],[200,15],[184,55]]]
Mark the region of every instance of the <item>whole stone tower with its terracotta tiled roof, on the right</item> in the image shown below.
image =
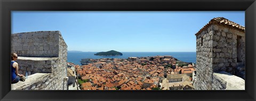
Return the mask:
[[[245,63],[245,27],[216,17],[196,34],[196,89],[216,89],[214,73],[239,74]],[[244,76],[240,76],[244,78]],[[215,84],[214,84],[215,83]]]

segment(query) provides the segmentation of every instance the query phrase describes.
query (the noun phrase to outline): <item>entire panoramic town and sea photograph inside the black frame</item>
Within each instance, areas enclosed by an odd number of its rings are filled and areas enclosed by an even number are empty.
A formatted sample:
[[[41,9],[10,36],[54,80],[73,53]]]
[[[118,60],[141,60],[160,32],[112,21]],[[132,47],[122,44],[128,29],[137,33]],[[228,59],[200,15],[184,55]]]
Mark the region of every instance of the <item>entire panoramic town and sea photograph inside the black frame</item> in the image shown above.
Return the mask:
[[[245,90],[244,11],[11,17],[11,90]]]

